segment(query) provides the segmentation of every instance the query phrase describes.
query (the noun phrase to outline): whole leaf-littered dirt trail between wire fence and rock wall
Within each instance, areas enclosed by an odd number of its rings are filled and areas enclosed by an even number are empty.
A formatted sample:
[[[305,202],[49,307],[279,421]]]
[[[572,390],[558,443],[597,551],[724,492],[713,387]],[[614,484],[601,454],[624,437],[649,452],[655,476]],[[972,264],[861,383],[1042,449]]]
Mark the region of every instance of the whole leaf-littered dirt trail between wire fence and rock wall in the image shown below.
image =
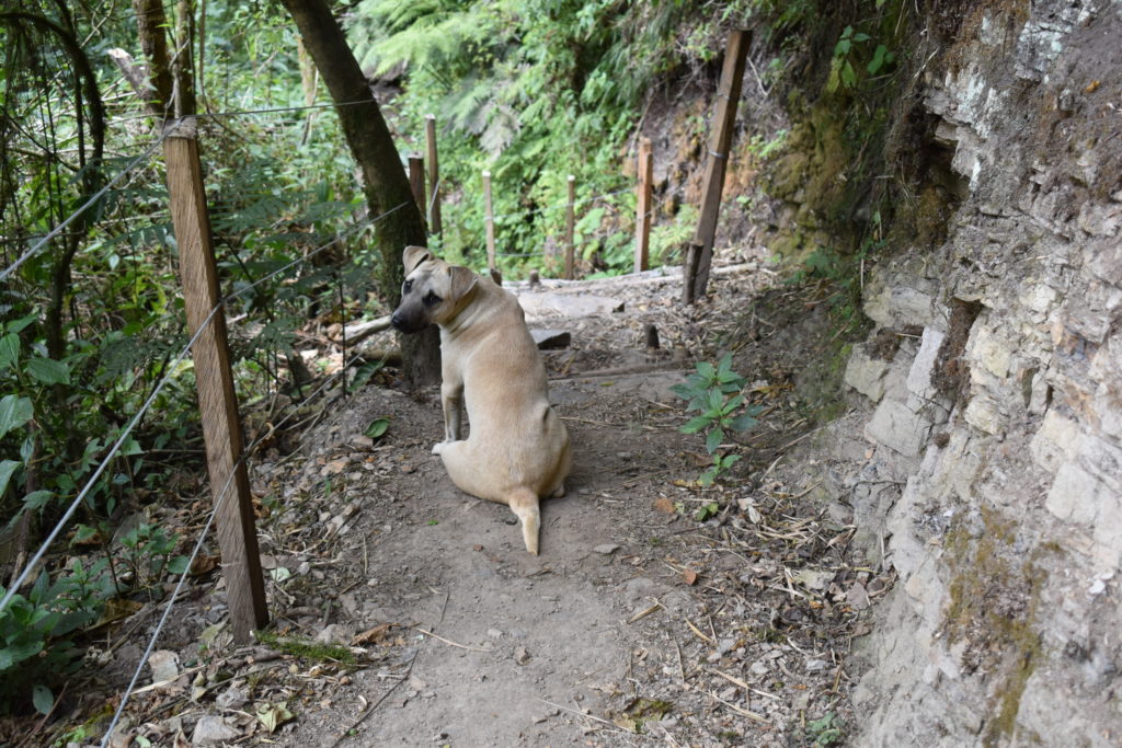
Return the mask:
[[[543,501],[537,557],[507,507],[456,489],[430,454],[435,389],[366,386],[296,449],[270,451],[250,475],[279,640],[229,646],[221,582],[203,578],[159,645],[178,680],[134,696],[120,738],[839,741],[853,723],[845,655],[890,580],[861,566],[844,512],[827,511],[792,454],[815,434],[791,382],[825,330],[819,292],[770,287],[743,259],[696,308],[678,303],[673,275],[516,289],[532,329],[571,335],[543,353],[574,465],[568,496]],[[645,348],[650,324],[659,350]],[[693,479],[709,458],[678,431],[670,387],[724,350],[767,412],[729,442],[745,459],[706,489]],[[365,435],[380,418],[386,433]],[[144,630],[116,650],[110,685]],[[301,656],[293,640],[343,648]]]

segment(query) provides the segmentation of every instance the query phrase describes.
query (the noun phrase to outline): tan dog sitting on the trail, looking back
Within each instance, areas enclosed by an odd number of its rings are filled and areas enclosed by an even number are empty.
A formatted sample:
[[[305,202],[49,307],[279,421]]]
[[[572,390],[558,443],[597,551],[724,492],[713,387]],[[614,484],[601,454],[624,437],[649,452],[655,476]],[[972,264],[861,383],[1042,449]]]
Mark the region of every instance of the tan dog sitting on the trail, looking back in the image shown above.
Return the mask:
[[[537,555],[539,498],[564,496],[571,456],[518,299],[422,247],[406,247],[402,258],[405,284],[394,326],[411,333],[440,325],[444,441],[432,453],[461,490],[509,506],[522,520],[526,550]]]

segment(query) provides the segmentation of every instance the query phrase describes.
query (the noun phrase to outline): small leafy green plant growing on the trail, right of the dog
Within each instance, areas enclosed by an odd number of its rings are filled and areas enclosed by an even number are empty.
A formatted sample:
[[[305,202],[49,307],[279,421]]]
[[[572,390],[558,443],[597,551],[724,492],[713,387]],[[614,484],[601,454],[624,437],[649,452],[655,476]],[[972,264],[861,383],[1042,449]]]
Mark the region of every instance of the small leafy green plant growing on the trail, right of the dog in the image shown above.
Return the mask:
[[[712,455],[712,464],[698,478],[702,486],[711,486],[718,475],[741,459],[738,454],[721,454],[719,451],[725,433],[748,431],[763,409],[757,405],[745,405],[741,391],[745,384],[747,380],[733,371],[732,353],[725,353],[716,367],[701,361],[697,371],[683,384],[671,387],[675,395],[687,400],[687,412],[698,412],[679,431],[683,434],[705,432],[705,447]]]

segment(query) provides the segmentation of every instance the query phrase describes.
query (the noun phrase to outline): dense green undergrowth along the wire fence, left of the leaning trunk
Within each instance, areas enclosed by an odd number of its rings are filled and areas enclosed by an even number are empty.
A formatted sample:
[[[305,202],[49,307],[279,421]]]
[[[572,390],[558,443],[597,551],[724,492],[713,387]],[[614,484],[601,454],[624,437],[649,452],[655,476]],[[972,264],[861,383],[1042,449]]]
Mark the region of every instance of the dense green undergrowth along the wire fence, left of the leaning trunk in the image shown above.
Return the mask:
[[[104,54],[111,47],[138,52],[128,3],[28,0],[17,6],[73,30],[85,44],[99,87],[114,93],[114,127],[105,133],[101,173],[121,173],[154,138],[142,102],[127,94]],[[201,108],[305,103],[296,55],[287,54],[296,48],[295,33],[282,12],[269,3],[208,7]],[[7,267],[83,202],[98,164],[89,128],[83,130],[89,112],[75,103],[72,59],[50,38],[7,21],[0,21],[0,267]],[[333,118],[312,122],[282,112],[204,118],[200,129],[221,290],[240,293],[228,308],[245,318],[231,325],[231,339],[247,401],[264,381],[273,384],[272,361],[292,351],[293,331],[319,314],[318,306],[337,304],[339,283],[358,299],[350,310],[357,313],[374,274],[361,231],[282,270],[362,218],[351,157]],[[249,288],[273,270],[280,271]],[[85,524],[74,539],[108,537],[109,517],[126,500],[140,507],[174,499],[173,481],[166,480],[171,468],[162,462],[167,458],[157,453],[190,452],[199,438],[193,366],[190,359],[171,364],[185,343],[157,148],[85,218],[0,284],[2,523],[34,512],[33,530],[50,527],[165,376],[153,407],[79,507]],[[35,591],[21,590],[26,597],[16,595],[0,613],[7,643],[0,677],[9,684],[0,686],[0,701],[11,709],[30,708],[33,699],[36,707],[46,703],[48,692],[31,684],[53,689],[65,676],[80,626],[96,618],[105,599],[127,591],[126,585],[156,591],[168,573],[182,571],[185,560],[174,554],[176,541],[162,527],[142,525],[119,548],[107,547],[105,558],[65,561],[65,571],[52,573],[55,582],[47,591],[39,587],[47,584],[45,575]],[[116,566],[110,566],[110,552]],[[47,563],[50,569],[56,560],[48,556]],[[22,657],[35,647],[37,654]]]

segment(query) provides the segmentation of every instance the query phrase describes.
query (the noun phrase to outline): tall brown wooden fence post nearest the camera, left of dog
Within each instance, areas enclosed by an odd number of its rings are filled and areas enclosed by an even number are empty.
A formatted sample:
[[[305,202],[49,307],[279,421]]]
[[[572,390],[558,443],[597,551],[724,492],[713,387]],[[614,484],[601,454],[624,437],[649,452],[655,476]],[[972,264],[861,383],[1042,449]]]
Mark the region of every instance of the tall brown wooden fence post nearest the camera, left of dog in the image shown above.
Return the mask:
[[[233,639],[246,644],[251,640],[254,629],[268,622],[269,615],[254,529],[249,475],[240,461],[243,449],[241,423],[230,373],[226,316],[219,307],[218,268],[211,246],[195,120],[187,118],[166,127],[174,128],[164,140],[164,158],[167,161],[167,192],[180,251],[187,329],[194,335],[205,326],[195,340],[191,357],[206,444],[206,470],[218,507],[214,525],[222,552],[222,574],[226,578]],[[215,307],[219,308],[212,316]],[[227,491],[224,497],[223,489]]]

